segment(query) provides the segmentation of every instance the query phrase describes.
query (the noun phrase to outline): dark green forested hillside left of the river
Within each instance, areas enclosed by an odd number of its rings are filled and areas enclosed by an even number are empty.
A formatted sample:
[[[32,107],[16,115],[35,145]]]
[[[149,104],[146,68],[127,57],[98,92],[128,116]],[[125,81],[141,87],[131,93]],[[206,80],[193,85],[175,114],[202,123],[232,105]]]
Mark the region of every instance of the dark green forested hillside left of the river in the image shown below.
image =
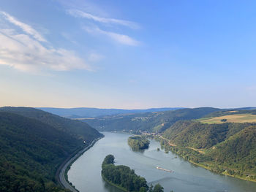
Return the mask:
[[[86,123],[82,124],[89,137],[83,131],[72,133],[71,122],[61,126],[63,118],[32,108],[22,110],[29,111],[30,118],[19,108],[0,110],[0,191],[67,191],[56,185],[56,170],[70,153],[85,145],[84,139],[89,145],[101,134]],[[45,123],[39,120],[42,117]]]

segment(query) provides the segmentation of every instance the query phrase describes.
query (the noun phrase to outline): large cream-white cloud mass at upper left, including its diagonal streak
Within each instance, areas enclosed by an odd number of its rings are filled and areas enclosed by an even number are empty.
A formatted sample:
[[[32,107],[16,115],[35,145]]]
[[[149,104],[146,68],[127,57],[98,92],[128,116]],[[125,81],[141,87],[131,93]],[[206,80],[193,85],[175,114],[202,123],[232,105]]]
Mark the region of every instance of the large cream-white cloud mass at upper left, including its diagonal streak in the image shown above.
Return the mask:
[[[0,64],[11,66],[26,72],[40,72],[44,69],[68,71],[71,69],[91,70],[82,58],[75,52],[62,48],[46,47],[41,42],[46,39],[31,26],[20,22],[6,12],[1,12],[1,18],[20,27],[21,33],[11,26],[0,26]],[[49,44],[49,43],[48,43]]]

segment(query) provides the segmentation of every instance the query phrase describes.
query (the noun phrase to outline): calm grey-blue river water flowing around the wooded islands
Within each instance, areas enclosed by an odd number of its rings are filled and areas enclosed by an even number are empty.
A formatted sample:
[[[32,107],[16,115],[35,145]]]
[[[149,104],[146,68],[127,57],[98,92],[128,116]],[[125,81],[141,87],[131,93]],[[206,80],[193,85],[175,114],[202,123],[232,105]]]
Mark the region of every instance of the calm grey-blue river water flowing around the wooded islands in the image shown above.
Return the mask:
[[[115,156],[116,165],[126,165],[135,173],[145,177],[148,184],[160,183],[170,192],[255,192],[256,183],[239,180],[190,164],[174,153],[164,153],[159,142],[151,140],[148,150],[134,152],[127,145],[129,134],[104,132],[94,147],[78,158],[68,172],[69,181],[80,192],[121,192],[101,177],[101,164],[108,154]],[[172,173],[156,169],[160,166]]]

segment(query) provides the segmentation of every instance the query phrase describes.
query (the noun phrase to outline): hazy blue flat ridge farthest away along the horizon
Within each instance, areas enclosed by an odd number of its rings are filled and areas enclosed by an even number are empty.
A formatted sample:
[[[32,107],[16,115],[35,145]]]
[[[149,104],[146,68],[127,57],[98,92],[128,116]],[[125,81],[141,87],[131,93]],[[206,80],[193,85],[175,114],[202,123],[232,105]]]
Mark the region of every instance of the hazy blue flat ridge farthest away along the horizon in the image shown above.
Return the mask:
[[[96,117],[105,116],[105,115],[178,110],[178,109],[181,109],[181,107],[151,108],[147,110],[99,109],[99,108],[90,108],[90,107],[80,107],[80,108],[39,107],[37,109],[43,110],[45,112],[50,112],[65,118],[96,118]]]

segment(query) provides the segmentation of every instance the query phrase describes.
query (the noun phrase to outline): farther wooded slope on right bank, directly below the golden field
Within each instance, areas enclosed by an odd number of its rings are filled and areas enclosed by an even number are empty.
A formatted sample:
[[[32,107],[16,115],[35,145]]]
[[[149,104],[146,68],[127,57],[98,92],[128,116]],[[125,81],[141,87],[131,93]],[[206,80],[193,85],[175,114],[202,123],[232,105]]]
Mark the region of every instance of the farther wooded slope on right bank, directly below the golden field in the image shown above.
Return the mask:
[[[203,124],[197,121],[178,121],[163,133],[170,142],[184,147],[209,148],[225,141],[252,123]]]

